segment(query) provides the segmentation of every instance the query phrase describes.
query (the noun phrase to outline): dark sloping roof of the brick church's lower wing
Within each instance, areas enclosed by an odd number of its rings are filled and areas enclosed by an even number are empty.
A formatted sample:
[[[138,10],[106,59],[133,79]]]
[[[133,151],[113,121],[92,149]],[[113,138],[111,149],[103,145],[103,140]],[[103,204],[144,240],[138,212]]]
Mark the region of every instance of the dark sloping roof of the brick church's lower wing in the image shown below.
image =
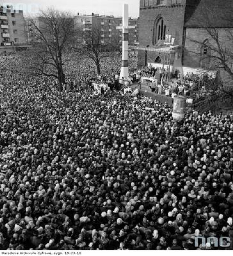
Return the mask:
[[[199,0],[186,6],[185,27],[233,28],[233,0]]]

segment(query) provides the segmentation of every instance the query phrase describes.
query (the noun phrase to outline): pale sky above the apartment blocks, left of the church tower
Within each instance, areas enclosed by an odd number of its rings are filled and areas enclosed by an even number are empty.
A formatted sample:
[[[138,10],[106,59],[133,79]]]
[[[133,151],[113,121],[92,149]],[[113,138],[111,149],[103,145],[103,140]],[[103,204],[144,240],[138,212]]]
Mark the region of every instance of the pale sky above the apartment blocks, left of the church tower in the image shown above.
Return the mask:
[[[1,5],[12,5],[23,10],[25,16],[34,16],[38,10],[55,7],[76,14],[104,14],[122,16],[123,4],[129,5],[129,17],[138,18],[139,0],[0,0]]]

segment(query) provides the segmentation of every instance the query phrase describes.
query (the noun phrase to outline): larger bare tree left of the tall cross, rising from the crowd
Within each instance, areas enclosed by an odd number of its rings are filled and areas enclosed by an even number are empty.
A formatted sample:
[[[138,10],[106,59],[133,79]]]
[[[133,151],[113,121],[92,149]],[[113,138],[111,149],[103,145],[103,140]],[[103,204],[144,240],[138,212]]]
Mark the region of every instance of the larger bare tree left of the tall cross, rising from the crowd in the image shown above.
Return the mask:
[[[37,35],[37,43],[27,53],[30,71],[33,75],[57,78],[62,91],[66,81],[63,66],[68,61],[65,53],[74,42],[73,16],[66,11],[48,8],[30,22]]]

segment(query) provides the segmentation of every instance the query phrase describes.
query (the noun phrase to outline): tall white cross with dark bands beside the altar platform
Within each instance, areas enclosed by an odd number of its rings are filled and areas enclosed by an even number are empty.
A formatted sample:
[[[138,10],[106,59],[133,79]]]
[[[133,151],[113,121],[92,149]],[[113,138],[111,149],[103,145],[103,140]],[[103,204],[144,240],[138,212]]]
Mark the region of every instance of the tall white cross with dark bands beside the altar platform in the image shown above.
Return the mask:
[[[135,26],[129,26],[129,12],[128,5],[123,4],[123,17],[122,26],[117,29],[122,29],[122,62],[121,62],[121,74],[119,83],[124,84],[124,81],[129,79],[129,61],[128,61],[128,45],[129,45],[129,29],[135,28]]]

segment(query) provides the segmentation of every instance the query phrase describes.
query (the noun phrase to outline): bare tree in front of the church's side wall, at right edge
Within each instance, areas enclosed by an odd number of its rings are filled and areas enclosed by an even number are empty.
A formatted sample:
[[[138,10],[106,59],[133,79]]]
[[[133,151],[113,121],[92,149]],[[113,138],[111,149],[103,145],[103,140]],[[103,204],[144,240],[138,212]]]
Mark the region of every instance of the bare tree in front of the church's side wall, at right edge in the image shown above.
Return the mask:
[[[223,13],[216,6],[204,6],[194,22],[201,29],[197,32],[198,39],[188,38],[196,46],[189,54],[199,60],[203,75],[217,72],[215,86],[208,96],[199,100],[199,108],[211,109],[226,100],[233,102],[233,13],[227,9]]]

